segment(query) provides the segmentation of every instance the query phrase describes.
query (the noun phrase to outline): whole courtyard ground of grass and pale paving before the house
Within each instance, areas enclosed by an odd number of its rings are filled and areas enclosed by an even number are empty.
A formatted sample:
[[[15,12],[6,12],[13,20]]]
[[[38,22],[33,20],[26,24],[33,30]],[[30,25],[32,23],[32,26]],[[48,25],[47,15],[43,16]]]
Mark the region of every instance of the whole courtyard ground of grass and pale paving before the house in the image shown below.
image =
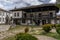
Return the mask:
[[[28,27],[29,32],[38,38],[38,40],[60,40],[56,30],[53,28],[49,33],[43,33],[42,27],[40,26],[22,26],[18,25],[14,28],[10,28],[10,25],[1,25],[0,27],[0,40],[15,40],[14,36],[18,33],[24,33],[24,29]]]

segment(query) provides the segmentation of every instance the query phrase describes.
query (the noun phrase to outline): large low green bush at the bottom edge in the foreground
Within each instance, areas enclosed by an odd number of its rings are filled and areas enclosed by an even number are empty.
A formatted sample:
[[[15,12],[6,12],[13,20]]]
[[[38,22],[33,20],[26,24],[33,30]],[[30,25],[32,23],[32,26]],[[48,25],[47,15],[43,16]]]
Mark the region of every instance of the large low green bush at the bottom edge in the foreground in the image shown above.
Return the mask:
[[[20,33],[20,34],[17,34],[16,40],[37,40],[37,38],[35,38],[30,34]]]

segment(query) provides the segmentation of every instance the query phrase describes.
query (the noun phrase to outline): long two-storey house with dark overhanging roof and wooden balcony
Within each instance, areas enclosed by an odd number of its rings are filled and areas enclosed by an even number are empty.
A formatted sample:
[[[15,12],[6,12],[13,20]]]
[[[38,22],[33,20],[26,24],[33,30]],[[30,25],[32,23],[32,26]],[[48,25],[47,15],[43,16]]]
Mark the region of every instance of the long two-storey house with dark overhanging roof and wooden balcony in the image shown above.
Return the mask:
[[[13,23],[19,25],[56,24],[59,8],[54,4],[42,4],[10,10]]]

